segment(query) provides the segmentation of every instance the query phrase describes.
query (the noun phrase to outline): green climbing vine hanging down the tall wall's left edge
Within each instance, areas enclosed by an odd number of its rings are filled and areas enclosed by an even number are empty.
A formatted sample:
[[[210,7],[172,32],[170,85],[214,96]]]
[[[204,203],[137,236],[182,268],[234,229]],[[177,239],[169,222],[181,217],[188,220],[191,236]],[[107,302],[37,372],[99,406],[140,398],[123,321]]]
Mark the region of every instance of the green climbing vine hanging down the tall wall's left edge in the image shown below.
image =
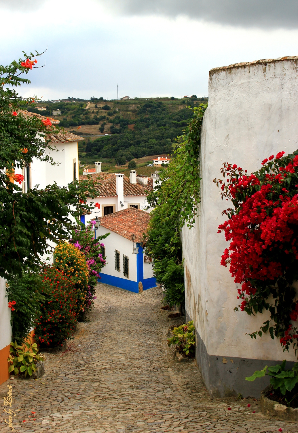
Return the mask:
[[[193,118],[178,137],[168,169],[159,171],[160,183],[147,197],[154,207],[146,236],[156,280],[163,284],[168,304],[184,305],[184,265],[180,230],[191,228],[200,204],[200,136],[207,105],[193,109]]]

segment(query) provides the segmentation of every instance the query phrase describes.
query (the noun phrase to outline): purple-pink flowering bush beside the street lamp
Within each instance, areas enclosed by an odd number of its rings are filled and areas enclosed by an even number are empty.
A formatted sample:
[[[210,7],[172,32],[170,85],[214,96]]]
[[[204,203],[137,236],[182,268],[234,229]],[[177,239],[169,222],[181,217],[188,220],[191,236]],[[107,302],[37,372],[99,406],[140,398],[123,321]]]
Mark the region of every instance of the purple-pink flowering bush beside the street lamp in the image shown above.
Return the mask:
[[[93,221],[90,221],[87,227],[81,226],[80,229],[74,229],[72,232],[72,239],[70,242],[85,255],[86,263],[88,266],[88,292],[86,299],[86,306],[90,309],[94,303],[95,286],[99,276],[99,272],[105,266],[105,244],[101,243],[102,239],[105,239],[107,235],[98,236],[94,239],[93,232]]]

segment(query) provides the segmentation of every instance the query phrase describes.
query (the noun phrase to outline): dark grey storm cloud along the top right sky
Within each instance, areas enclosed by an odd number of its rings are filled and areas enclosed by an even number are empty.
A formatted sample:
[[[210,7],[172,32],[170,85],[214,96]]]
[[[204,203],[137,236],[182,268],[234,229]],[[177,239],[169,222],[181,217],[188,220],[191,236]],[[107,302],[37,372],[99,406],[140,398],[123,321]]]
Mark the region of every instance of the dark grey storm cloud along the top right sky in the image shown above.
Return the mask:
[[[125,15],[190,19],[262,28],[298,28],[297,0],[98,0]]]

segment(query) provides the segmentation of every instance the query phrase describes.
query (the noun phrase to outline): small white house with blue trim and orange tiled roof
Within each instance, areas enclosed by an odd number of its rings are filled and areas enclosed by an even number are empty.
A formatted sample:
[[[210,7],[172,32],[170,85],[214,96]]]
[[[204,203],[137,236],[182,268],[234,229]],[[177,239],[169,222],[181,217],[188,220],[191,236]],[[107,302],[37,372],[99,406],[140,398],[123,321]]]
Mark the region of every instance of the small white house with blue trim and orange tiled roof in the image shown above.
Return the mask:
[[[96,236],[110,235],[105,239],[107,263],[99,282],[135,293],[156,286],[152,260],[143,249],[143,233],[150,217],[149,213],[130,207],[100,218]]]

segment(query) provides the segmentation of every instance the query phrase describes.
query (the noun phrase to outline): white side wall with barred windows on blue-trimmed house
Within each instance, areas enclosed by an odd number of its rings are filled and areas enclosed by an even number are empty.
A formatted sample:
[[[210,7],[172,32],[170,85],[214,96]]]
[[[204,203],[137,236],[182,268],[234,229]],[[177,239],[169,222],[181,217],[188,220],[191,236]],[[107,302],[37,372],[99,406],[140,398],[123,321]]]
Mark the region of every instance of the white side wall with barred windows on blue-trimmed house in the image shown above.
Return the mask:
[[[124,278],[125,280],[136,281],[136,257],[137,254],[133,254],[133,242],[100,226],[96,230],[96,237],[110,233],[110,235],[103,239],[101,242],[105,244],[105,255],[106,255],[106,265],[102,268],[101,273],[112,275],[113,277]],[[120,252],[120,272],[115,269],[115,249]],[[123,275],[123,255],[128,257],[129,263],[129,278]]]

